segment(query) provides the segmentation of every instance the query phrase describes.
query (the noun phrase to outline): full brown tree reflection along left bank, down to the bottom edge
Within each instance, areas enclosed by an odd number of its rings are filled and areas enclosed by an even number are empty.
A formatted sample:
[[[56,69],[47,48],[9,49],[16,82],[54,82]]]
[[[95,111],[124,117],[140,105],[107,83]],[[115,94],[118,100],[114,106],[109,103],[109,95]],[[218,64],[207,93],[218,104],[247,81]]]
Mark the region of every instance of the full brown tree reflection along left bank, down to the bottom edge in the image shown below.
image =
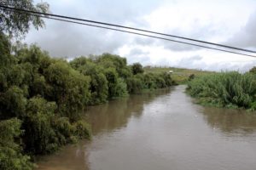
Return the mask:
[[[171,89],[160,89],[153,93],[135,94],[128,98],[114,99],[104,105],[90,106],[84,118],[90,122],[93,139],[98,133],[113,133],[125,127],[131,116],[142,115],[143,106],[161,95],[169,94]],[[38,161],[38,170],[87,170],[88,153],[86,146],[93,141],[81,141],[76,145],[68,145],[54,155],[42,156]]]

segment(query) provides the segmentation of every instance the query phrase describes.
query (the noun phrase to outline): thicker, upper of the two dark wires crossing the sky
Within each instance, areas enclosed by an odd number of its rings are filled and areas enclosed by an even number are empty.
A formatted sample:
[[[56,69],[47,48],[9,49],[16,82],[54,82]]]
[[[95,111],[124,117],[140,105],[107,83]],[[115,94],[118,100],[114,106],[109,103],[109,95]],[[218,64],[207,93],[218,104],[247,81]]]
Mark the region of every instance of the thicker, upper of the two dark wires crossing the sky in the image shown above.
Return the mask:
[[[105,26],[115,26],[115,27],[125,28],[125,29],[129,29],[129,30],[143,31],[143,32],[158,34],[158,35],[161,35],[161,36],[176,37],[176,38],[189,40],[189,41],[193,41],[193,42],[207,43],[207,44],[215,45],[215,46],[222,47],[222,48],[231,48],[231,49],[236,49],[236,50],[239,50],[239,51],[244,51],[244,52],[255,53],[256,54],[256,51],[249,50],[249,49],[236,48],[236,47],[231,47],[231,46],[224,45],[224,44],[206,42],[206,41],[196,40],[196,39],[193,39],[193,38],[180,37],[180,36],[175,36],[175,35],[171,35],[171,34],[156,32],[156,31],[148,31],[148,30],[138,29],[138,28],[134,28],[134,27],[130,27],[130,26],[120,26],[120,25],[110,24],[110,23],[107,23],[107,22],[100,22],[100,21],[96,21],[96,20],[84,20],[84,19],[64,16],[64,15],[59,15],[59,14],[48,14],[48,13],[42,13],[42,12],[37,12],[37,11],[32,11],[32,10],[26,10],[26,9],[22,9],[22,8],[13,8],[13,7],[5,6],[3,4],[0,4],[0,7],[3,8],[3,9],[12,9],[12,10],[23,11],[23,12],[28,12],[28,13],[32,13],[32,14],[43,14],[43,15],[47,15],[47,16],[51,16],[51,17],[62,18],[62,19],[79,20],[79,21],[90,22],[90,23],[100,24],[100,25],[105,25]]]

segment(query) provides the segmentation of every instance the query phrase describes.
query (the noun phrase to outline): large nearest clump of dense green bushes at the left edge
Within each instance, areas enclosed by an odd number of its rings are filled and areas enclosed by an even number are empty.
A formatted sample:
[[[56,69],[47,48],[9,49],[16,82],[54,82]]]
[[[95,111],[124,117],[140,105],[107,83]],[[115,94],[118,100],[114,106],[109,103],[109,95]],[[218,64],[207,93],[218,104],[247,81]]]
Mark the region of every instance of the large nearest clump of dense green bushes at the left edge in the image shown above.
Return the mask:
[[[90,78],[36,46],[11,47],[0,35],[0,169],[31,169],[24,153],[47,154],[89,138],[79,113],[90,99]]]

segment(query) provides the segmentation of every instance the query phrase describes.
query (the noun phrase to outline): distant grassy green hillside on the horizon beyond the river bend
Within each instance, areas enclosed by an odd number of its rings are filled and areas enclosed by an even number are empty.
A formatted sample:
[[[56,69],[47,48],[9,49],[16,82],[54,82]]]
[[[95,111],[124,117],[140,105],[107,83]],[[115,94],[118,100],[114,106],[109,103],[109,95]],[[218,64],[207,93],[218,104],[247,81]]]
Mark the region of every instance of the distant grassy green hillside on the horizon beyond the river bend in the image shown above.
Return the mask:
[[[146,73],[149,73],[149,72],[160,73],[160,72],[173,71],[172,78],[178,84],[186,83],[189,79],[189,75],[191,74],[194,74],[195,77],[200,77],[202,75],[212,73],[211,71],[200,71],[195,69],[183,69],[183,68],[174,68],[174,67],[149,67],[149,66],[144,67],[144,71]]]

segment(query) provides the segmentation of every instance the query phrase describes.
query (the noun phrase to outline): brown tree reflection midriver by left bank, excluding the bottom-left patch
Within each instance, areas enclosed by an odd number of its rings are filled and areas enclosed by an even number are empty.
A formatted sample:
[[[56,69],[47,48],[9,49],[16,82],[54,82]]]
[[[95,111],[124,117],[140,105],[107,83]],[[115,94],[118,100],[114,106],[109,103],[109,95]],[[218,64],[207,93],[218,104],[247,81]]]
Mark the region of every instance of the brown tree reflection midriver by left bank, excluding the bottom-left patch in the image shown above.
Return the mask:
[[[170,89],[158,90],[155,93],[131,95],[129,98],[115,99],[106,105],[90,106],[86,118],[91,124],[94,135],[124,127],[131,116],[141,116],[143,106],[156,97],[170,93]]]

